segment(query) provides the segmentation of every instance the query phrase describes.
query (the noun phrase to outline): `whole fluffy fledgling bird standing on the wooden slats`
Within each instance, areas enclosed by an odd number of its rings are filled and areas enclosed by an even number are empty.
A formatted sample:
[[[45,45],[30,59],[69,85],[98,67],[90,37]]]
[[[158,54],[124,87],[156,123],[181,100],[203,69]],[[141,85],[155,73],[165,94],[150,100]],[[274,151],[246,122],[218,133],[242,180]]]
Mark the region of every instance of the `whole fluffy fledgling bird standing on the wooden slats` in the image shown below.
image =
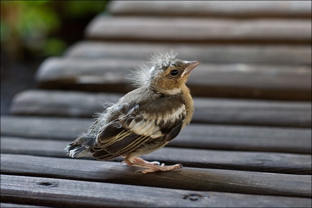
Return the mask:
[[[164,147],[191,122],[194,101],[186,82],[201,62],[176,56],[173,51],[155,52],[126,76],[137,88],[98,113],[89,131],[66,146],[67,154],[102,161],[121,156],[128,166],[143,168],[137,170],[142,173],[182,168],[140,158]]]

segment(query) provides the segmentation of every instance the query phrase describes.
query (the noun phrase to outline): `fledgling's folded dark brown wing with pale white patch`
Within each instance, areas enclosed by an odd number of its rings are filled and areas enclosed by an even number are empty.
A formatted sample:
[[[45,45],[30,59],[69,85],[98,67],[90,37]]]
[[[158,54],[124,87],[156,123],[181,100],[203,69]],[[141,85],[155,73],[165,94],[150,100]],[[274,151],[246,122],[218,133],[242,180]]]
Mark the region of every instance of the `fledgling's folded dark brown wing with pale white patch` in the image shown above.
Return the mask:
[[[142,144],[168,142],[180,132],[186,117],[185,106],[165,115],[144,113],[137,108],[105,125],[98,133],[93,157],[107,160],[126,155]]]

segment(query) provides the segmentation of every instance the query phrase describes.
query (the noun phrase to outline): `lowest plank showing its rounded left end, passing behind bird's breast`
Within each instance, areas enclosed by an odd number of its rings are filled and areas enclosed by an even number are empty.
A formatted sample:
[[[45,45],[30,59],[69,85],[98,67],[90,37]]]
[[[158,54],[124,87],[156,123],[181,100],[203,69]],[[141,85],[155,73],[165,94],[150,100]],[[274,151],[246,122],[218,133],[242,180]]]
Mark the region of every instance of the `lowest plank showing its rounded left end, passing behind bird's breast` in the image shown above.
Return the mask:
[[[87,94],[64,91],[24,91],[10,111],[21,115],[87,116],[103,112],[123,94]],[[103,103],[103,104],[102,104]],[[260,101],[194,97],[192,122],[264,126],[311,127],[311,102]]]

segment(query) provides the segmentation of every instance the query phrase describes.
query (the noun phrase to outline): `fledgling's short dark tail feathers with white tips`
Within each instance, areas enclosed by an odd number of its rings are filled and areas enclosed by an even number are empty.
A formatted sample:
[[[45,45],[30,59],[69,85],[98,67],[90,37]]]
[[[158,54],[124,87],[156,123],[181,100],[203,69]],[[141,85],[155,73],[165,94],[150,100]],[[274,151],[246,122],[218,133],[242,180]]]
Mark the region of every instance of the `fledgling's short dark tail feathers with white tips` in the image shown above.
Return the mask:
[[[94,136],[83,134],[78,136],[71,144],[67,145],[64,150],[67,151],[70,157],[88,156],[95,141],[96,138]]]

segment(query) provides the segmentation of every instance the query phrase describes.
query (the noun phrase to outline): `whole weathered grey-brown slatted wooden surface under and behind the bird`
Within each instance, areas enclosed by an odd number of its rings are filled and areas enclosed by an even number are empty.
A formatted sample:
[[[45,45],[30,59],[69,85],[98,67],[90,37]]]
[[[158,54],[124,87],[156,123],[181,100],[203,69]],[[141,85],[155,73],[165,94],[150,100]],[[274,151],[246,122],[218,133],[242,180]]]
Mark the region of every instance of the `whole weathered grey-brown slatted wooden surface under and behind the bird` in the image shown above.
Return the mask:
[[[312,207],[311,1],[111,1],[1,116],[2,207]],[[189,126],[138,168],[69,158],[157,49],[200,60]]]

